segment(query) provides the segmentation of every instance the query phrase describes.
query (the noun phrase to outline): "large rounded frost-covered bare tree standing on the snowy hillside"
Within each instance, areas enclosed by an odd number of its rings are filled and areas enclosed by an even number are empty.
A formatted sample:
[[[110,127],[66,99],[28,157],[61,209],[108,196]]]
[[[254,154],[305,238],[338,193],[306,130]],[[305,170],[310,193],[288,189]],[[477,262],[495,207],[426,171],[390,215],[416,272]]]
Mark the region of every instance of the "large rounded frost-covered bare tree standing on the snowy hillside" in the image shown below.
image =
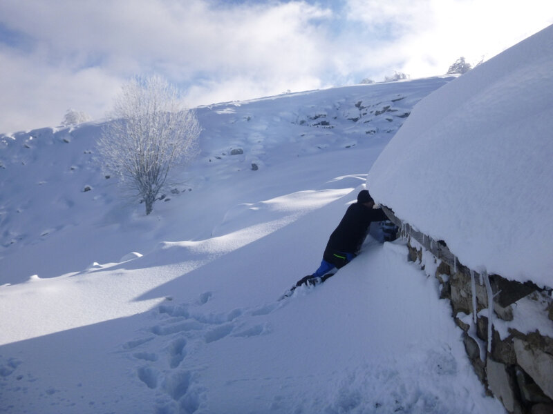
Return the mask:
[[[122,179],[146,206],[146,214],[172,168],[198,152],[200,125],[178,90],[158,76],[136,77],[122,86],[98,152],[104,168]]]

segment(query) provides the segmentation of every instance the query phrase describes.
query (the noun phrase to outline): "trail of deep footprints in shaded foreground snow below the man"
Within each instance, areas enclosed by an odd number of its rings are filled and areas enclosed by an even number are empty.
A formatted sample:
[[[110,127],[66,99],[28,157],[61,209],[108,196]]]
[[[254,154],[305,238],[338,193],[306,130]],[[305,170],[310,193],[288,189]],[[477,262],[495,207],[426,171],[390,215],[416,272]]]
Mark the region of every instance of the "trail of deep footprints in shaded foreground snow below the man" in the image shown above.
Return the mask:
[[[253,309],[236,308],[223,313],[202,312],[213,299],[212,292],[202,293],[189,303],[165,302],[153,315],[158,323],[147,328],[147,335],[126,342],[122,348],[131,351],[138,365],[135,375],[147,388],[162,391],[157,399],[160,413],[187,413],[198,410],[204,400],[203,387],[197,375],[186,369],[189,352],[202,349],[225,337],[248,339],[271,332],[270,324],[256,317],[268,315],[283,304],[265,304]]]

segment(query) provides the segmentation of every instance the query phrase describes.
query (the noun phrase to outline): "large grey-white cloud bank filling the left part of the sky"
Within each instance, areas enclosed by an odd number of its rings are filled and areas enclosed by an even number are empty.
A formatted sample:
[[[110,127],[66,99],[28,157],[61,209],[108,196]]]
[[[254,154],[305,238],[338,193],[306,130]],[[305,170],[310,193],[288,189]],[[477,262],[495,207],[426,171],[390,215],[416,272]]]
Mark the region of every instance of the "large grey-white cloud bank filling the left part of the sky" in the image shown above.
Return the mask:
[[[329,17],[328,10],[308,3],[212,4],[3,1],[0,22],[15,32],[25,28],[31,47],[4,50],[3,61],[11,61],[3,72],[10,79],[12,99],[0,103],[1,130],[52,124],[69,106],[101,117],[115,83],[142,72],[161,72],[171,81],[193,86],[194,104],[209,97],[241,99],[278,93],[283,85],[312,84],[296,79],[312,78],[324,64],[319,52],[324,36],[310,21]],[[77,88],[91,72],[95,79]],[[207,81],[194,86],[202,77]],[[246,79],[253,84],[246,86]],[[98,83],[104,90],[96,89]],[[238,96],[229,96],[234,92]]]

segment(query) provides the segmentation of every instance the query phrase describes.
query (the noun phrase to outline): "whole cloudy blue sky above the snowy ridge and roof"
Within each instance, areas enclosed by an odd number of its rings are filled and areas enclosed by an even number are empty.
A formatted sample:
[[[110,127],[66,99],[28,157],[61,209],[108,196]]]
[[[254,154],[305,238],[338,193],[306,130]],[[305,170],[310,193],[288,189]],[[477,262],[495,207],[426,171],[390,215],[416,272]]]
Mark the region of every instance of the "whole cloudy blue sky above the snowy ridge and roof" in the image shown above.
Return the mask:
[[[0,132],[100,119],[133,75],[198,106],[442,75],[552,23],[550,0],[2,0]]]

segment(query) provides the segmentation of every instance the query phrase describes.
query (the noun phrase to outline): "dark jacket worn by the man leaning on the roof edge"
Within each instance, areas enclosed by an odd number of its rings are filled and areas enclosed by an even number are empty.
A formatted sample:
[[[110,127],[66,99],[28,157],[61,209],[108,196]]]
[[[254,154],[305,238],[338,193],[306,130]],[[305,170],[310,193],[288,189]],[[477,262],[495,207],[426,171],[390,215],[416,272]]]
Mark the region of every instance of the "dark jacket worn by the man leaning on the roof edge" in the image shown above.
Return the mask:
[[[330,252],[359,252],[368,233],[372,221],[386,220],[388,217],[382,208],[368,208],[364,204],[355,203],[348,207],[338,227],[330,235],[326,244],[325,255]]]

